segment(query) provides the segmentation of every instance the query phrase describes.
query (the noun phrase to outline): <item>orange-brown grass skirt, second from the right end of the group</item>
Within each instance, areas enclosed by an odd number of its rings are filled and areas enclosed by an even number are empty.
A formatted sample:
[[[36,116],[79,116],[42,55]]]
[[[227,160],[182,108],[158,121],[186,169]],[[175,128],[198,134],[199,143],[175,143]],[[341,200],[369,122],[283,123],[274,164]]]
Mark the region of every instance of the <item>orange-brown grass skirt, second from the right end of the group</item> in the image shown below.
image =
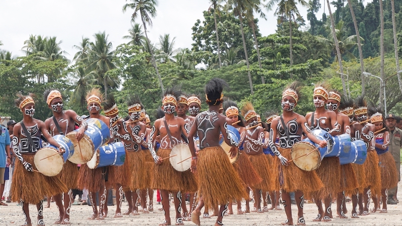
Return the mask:
[[[367,183],[365,188],[370,187],[371,194],[374,196],[381,195],[381,171],[378,163],[379,160],[377,152],[367,152],[367,159],[363,163]]]

